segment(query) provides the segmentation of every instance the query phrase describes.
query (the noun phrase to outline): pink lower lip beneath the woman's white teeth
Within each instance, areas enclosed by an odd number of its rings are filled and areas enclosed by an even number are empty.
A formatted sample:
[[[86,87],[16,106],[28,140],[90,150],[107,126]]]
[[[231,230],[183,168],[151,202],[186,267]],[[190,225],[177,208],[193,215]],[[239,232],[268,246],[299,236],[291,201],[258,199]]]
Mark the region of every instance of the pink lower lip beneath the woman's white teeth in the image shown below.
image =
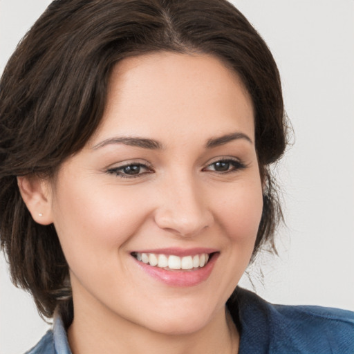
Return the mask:
[[[168,286],[196,286],[199,283],[203,283],[209,278],[212,273],[216,259],[218,259],[219,253],[213,254],[213,257],[209,259],[207,265],[203,268],[196,270],[165,270],[159,267],[153,267],[152,265],[143,263],[135,259],[139,267],[147,272],[151,277],[162,281]]]

